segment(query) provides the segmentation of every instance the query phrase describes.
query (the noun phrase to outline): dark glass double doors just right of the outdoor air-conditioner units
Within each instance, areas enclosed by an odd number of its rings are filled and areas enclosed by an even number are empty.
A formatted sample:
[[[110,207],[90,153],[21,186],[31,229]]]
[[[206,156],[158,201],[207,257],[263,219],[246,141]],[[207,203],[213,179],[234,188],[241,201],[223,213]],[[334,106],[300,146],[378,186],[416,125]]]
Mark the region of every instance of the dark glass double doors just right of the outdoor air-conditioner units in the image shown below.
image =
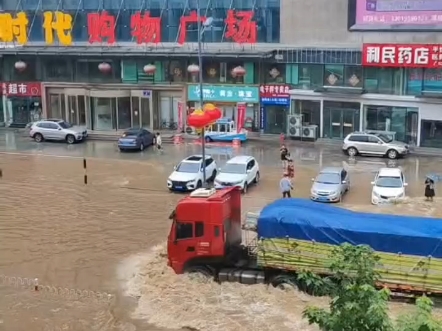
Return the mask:
[[[357,102],[324,101],[323,138],[344,139],[359,131],[360,107]]]

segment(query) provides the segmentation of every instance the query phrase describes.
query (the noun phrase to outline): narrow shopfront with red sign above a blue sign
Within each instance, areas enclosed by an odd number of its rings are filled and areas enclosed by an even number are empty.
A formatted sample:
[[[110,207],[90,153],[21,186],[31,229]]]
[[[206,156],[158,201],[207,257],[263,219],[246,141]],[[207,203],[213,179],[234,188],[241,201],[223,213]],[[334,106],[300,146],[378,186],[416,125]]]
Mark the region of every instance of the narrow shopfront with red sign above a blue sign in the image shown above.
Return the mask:
[[[290,94],[287,85],[261,85],[260,130],[263,133],[281,134],[287,132],[290,113]]]

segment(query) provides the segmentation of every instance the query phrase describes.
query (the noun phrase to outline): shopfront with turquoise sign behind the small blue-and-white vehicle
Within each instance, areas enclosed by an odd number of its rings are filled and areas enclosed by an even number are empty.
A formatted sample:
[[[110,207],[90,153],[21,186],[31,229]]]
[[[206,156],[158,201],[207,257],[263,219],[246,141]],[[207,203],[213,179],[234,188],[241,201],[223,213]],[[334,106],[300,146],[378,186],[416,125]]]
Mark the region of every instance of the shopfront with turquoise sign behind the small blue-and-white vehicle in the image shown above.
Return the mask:
[[[188,109],[199,107],[199,85],[187,86]],[[246,105],[244,127],[259,131],[259,88],[244,85],[207,85],[203,86],[203,101],[211,102],[223,112],[223,117],[237,119],[238,104]]]

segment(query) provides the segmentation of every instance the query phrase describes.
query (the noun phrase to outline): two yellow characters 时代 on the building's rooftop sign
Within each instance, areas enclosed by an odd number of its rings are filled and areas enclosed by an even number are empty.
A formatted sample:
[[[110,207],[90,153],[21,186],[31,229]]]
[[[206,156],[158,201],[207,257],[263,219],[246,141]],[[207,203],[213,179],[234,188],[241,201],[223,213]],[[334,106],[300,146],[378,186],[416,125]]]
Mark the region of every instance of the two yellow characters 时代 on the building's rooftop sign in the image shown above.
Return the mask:
[[[54,43],[54,32],[61,45],[72,45],[72,15],[59,11],[47,11],[43,14],[43,29],[47,44]],[[17,42],[24,45],[28,42],[29,20],[25,12],[17,13],[13,18],[9,13],[0,14],[0,41],[5,43]]]

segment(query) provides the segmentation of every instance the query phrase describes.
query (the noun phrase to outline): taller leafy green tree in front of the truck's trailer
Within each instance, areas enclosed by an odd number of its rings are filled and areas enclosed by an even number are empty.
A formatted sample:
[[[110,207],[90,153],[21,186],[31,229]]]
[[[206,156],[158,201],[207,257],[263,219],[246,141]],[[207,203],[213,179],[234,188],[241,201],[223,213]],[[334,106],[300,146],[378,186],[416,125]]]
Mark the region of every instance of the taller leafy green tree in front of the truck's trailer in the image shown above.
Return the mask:
[[[333,276],[322,284],[331,296],[329,310],[308,307],[304,318],[323,331],[393,331],[388,316],[390,292],[375,287],[378,261],[368,246],[343,244],[334,248],[329,266]]]

